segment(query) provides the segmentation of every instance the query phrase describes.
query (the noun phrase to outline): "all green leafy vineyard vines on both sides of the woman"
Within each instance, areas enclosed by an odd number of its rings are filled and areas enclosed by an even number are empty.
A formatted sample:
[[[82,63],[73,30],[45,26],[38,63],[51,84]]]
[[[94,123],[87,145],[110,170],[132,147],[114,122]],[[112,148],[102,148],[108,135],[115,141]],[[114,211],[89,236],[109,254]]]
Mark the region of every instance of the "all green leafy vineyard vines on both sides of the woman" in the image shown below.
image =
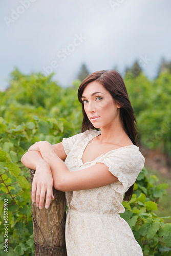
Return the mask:
[[[15,69],[9,88],[0,92],[1,255],[6,255],[5,202],[9,255],[34,255],[31,180],[20,159],[36,141],[55,144],[81,130],[80,80],[61,88],[52,76],[24,75]],[[161,73],[151,81],[142,72],[137,77],[127,72],[124,81],[138,123],[139,144],[160,148],[171,165],[171,74]],[[121,217],[129,223],[144,255],[171,255],[171,217],[155,213],[168,185],[157,184],[155,175],[147,177],[144,167],[131,201],[123,202],[126,210]]]

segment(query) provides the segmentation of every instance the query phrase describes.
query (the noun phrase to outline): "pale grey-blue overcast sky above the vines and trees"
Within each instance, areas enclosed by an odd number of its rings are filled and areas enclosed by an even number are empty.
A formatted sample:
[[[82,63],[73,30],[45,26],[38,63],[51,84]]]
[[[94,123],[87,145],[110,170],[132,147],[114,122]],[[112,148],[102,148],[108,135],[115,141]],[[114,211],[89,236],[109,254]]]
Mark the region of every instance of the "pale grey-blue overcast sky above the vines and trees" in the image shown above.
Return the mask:
[[[0,15],[0,90],[14,67],[24,74],[54,71],[66,87],[82,63],[90,72],[123,73],[137,59],[153,78],[161,58],[171,60],[169,0],[6,0]]]

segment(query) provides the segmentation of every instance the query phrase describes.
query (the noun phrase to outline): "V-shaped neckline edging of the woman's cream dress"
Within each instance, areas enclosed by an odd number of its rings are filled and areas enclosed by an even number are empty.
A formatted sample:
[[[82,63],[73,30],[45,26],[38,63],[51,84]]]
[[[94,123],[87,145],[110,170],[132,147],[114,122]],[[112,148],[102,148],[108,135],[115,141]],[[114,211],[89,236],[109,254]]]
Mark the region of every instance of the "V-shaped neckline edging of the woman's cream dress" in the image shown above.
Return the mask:
[[[94,131],[95,131],[95,130],[94,130]],[[100,133],[98,133],[97,135],[95,134],[95,136],[91,134],[90,138],[88,139],[88,141],[86,140],[86,142],[85,142],[85,144],[84,144],[84,146],[83,146],[83,150],[81,151],[80,157],[79,157],[79,165],[80,165],[80,167],[81,167],[82,165],[84,165],[84,164],[92,163],[92,162],[96,161],[97,158],[99,158],[99,157],[101,157],[101,156],[105,156],[106,154],[109,154],[109,153],[111,153],[111,152],[113,152],[113,151],[120,150],[121,148],[133,147],[133,148],[139,149],[139,147],[136,146],[136,145],[134,145],[134,144],[132,144],[132,145],[127,145],[127,146],[121,146],[121,147],[115,148],[114,150],[110,150],[110,151],[106,152],[105,154],[101,154],[100,156],[96,157],[96,158],[95,158],[94,160],[92,160],[92,161],[88,161],[88,162],[83,163],[83,162],[82,162],[82,156],[83,156],[83,153],[84,153],[84,151],[86,150],[86,147],[88,146],[89,142],[90,142],[91,140],[93,140],[95,137],[97,137],[97,136],[99,136],[99,135],[101,134],[101,131],[96,131],[96,132],[97,132],[97,133],[100,132]]]

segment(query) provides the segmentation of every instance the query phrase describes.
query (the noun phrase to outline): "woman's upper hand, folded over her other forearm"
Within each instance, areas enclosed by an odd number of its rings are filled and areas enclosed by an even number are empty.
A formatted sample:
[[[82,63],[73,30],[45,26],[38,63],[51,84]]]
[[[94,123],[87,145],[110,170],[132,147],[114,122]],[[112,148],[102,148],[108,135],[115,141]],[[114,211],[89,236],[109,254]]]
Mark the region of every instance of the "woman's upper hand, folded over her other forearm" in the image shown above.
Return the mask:
[[[38,141],[30,146],[28,151],[39,151],[42,158],[48,163],[56,156],[51,143],[48,141]]]

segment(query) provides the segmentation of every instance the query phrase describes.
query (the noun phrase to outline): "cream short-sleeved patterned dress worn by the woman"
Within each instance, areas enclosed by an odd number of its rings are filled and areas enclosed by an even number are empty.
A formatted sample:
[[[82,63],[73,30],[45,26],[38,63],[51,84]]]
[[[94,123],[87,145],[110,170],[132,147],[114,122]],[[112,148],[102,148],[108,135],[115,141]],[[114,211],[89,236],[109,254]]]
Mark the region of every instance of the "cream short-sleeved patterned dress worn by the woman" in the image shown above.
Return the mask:
[[[88,130],[62,144],[70,172],[104,163],[119,181],[99,188],[67,191],[66,246],[68,256],[142,256],[142,249],[130,226],[119,214],[123,194],[136,181],[144,166],[144,157],[136,145],[102,154],[94,161],[82,163],[87,144],[100,131]]]

